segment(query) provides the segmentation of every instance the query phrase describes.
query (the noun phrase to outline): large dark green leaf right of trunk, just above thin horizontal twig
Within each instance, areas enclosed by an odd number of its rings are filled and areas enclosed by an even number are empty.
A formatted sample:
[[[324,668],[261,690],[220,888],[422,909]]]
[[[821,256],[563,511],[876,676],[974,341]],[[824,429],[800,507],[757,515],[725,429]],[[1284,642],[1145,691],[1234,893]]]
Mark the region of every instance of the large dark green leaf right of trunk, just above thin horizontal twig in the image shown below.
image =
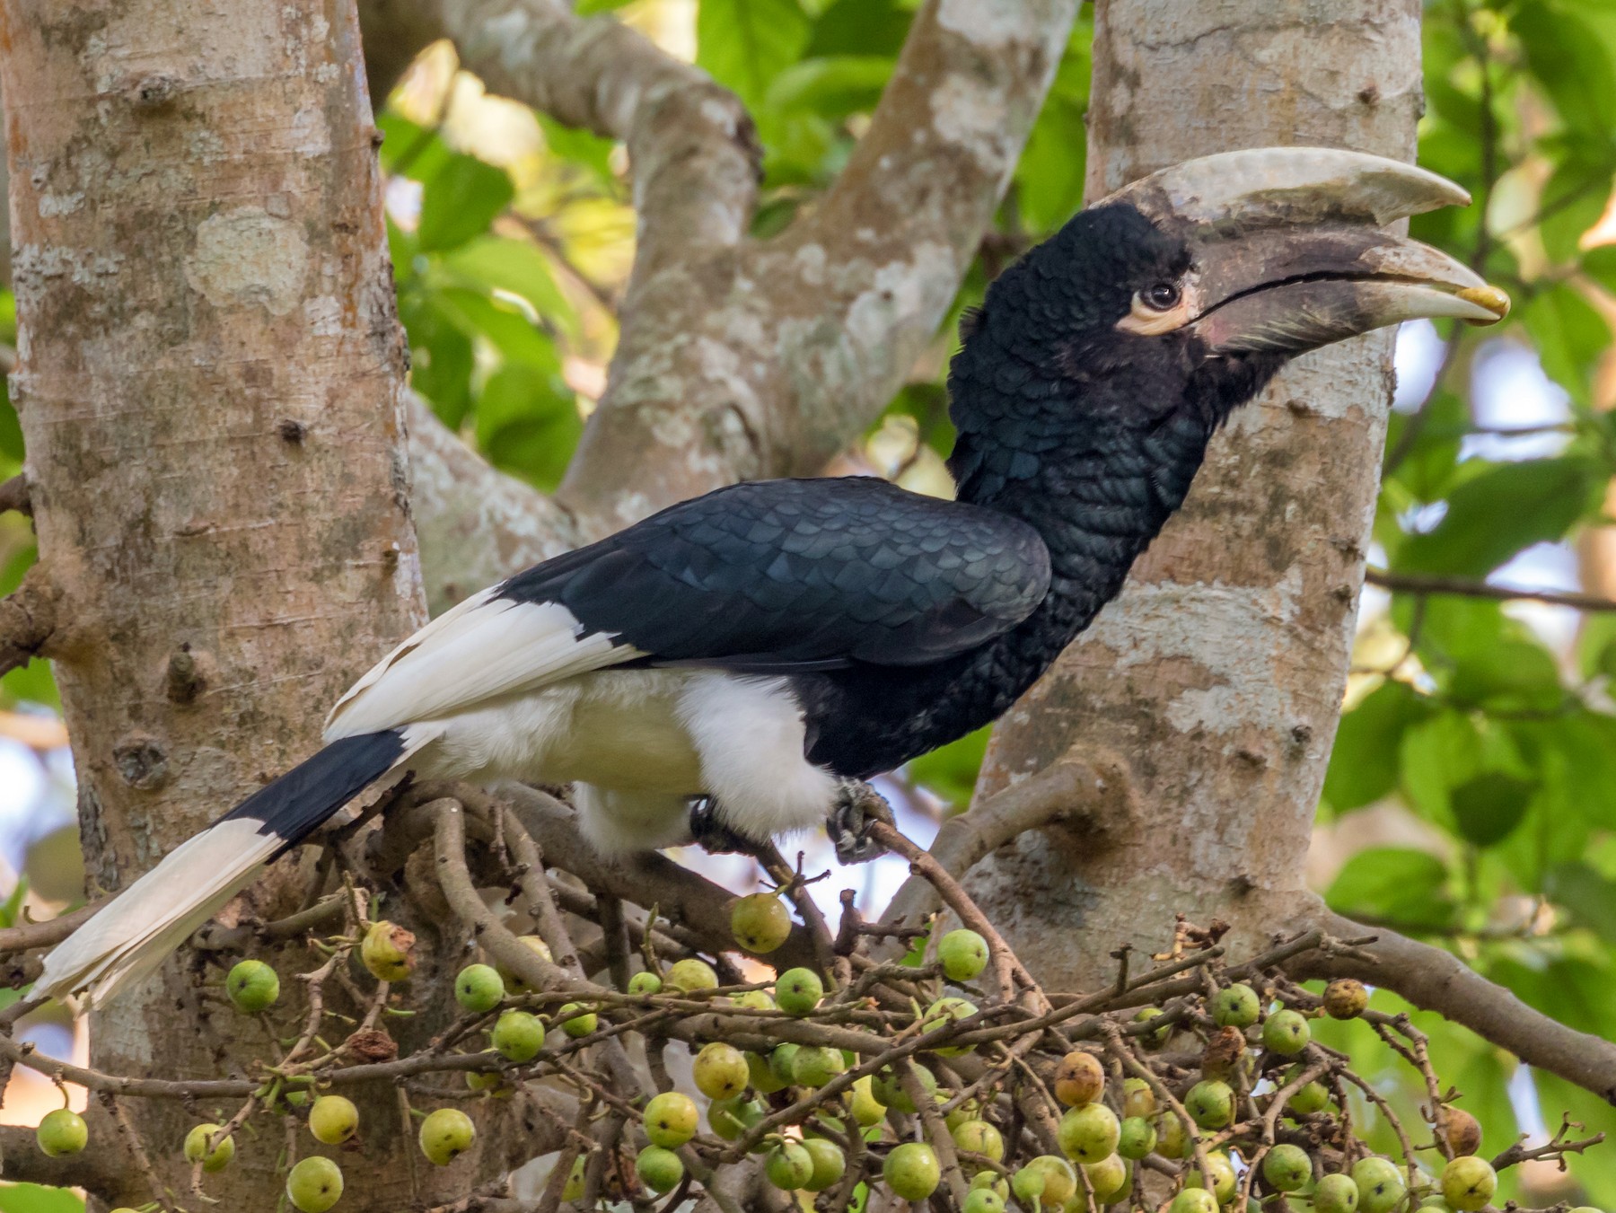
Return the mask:
[[[1448,493],[1448,512],[1396,551],[1399,572],[1485,577],[1522,548],[1559,539],[1592,504],[1600,476],[1590,460],[1496,464]]]

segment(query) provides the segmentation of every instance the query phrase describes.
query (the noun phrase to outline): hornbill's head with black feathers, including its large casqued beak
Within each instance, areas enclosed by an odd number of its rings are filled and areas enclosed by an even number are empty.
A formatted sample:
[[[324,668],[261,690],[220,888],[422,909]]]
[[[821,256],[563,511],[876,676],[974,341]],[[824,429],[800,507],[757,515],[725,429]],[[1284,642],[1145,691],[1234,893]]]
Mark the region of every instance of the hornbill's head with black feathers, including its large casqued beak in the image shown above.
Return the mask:
[[[953,365],[962,434],[1049,449],[1068,426],[1172,413],[1210,430],[1306,350],[1414,317],[1495,323],[1501,291],[1385,229],[1467,202],[1425,170],[1322,147],[1225,152],[1136,181],[989,288]]]

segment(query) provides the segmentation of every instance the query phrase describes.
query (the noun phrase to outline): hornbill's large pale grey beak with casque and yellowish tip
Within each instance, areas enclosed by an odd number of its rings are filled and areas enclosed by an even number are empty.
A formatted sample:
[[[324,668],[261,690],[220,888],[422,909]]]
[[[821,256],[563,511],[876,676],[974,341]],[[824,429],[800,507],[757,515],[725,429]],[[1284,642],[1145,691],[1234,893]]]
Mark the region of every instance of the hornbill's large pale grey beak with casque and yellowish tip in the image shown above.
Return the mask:
[[[1193,254],[1176,323],[1136,307],[1123,326],[1189,326],[1212,352],[1298,354],[1416,317],[1498,323],[1509,312],[1503,291],[1378,229],[1469,200],[1435,173],[1327,147],[1188,160],[1105,199],[1138,207]]]

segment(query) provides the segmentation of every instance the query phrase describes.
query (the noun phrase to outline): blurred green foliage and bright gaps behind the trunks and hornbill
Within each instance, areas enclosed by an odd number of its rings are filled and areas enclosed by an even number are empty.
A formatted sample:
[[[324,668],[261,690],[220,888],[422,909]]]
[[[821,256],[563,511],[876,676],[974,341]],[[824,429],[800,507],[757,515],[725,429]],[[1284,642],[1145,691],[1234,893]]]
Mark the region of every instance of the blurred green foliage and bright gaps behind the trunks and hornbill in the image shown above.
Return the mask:
[[[916,6],[577,3],[616,10],[747,102],[764,147],[760,236],[811,208],[845,163]],[[942,381],[953,320],[1081,204],[1089,37],[1084,6],[949,323],[829,472],[949,491]],[[1425,94],[1420,162],[1469,187],[1477,205],[1420,216],[1414,234],[1503,284],[1516,310],[1496,329],[1422,323],[1401,334],[1369,552],[1378,585],[1364,596],[1309,875],[1336,909],[1443,943],[1556,1019],[1616,1039],[1616,5],[1432,0]],[[617,334],[635,226],[624,149],[485,95],[448,45],[417,61],[380,121],[414,386],[496,467],[554,488]],[[6,292],[6,350],[13,338]],[[16,417],[0,402],[0,478],[21,459]],[[24,520],[0,517],[0,591],[31,560]],[[1427,593],[1433,578],[1443,593]],[[1488,588],[1587,601],[1506,601]],[[73,861],[61,858],[71,791],[55,703],[44,662],[0,682],[0,745],[10,748],[0,759],[26,751],[50,775],[8,808],[13,842],[0,851],[16,869],[27,864],[45,900],[74,888]],[[915,762],[900,788],[934,816],[962,809],[984,743],[976,735]],[[39,859],[45,853],[55,858]],[[1553,1131],[1563,1110],[1616,1129],[1595,1097],[1524,1072],[1432,1016],[1417,1021],[1440,1072],[1482,1119],[1485,1152],[1517,1131],[1542,1135],[1545,1121]],[[1327,1024],[1324,1034],[1374,1069],[1380,1045],[1367,1029]],[[1399,1111],[1424,1100],[1390,1056],[1377,1072]],[[13,1111],[8,1100],[8,1119]],[[1359,1111],[1375,1123],[1370,1108]],[[1616,1203],[1616,1148],[1572,1160],[1572,1171],[1516,1168],[1509,1184],[1529,1189],[1500,1200]],[[60,1208],[39,1203],[58,1195],[0,1187],[0,1213]]]

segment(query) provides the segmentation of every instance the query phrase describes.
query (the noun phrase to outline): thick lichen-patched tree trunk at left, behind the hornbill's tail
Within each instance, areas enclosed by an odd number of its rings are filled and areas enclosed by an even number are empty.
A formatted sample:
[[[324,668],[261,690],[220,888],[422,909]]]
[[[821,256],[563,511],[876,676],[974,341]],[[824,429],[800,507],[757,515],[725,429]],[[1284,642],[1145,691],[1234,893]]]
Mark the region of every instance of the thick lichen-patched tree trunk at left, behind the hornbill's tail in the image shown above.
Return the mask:
[[[8,0],[3,23],[11,383],[87,871],[115,890],[305,758],[423,620],[406,347],[352,0]],[[178,961],[92,1042],[97,1066],[162,1077],[265,1051]],[[131,1108],[175,1192],[186,1127],[231,1111]],[[273,1205],[273,1137],[208,1177],[223,1207]],[[344,1158],[349,1184],[404,1203],[385,1160]],[[128,1184],[105,1195],[150,1198]]]

